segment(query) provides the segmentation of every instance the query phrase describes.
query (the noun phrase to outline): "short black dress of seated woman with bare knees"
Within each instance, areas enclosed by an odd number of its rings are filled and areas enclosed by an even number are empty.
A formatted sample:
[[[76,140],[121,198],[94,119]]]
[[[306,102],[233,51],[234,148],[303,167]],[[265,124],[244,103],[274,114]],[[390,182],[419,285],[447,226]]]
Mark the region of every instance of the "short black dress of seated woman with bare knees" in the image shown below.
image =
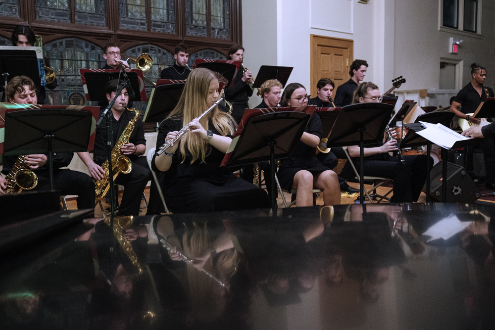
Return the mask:
[[[321,139],[321,120],[317,113],[313,113],[304,132],[316,135],[318,139]],[[316,148],[299,141],[297,142],[296,148],[291,153],[291,156],[283,159],[280,163],[277,172],[280,186],[283,189],[292,189],[294,176],[297,172],[302,170],[309,171],[314,175],[330,169],[321,164],[318,158],[316,158]]]

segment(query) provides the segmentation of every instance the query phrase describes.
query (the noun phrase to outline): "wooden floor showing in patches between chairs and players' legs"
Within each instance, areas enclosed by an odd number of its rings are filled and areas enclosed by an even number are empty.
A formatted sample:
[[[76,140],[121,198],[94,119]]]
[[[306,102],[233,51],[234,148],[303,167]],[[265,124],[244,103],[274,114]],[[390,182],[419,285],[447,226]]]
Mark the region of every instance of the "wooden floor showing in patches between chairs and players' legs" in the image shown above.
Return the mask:
[[[359,184],[357,184],[357,183],[349,183],[349,186],[351,186],[353,188],[356,188],[356,189],[359,189]],[[364,185],[364,187],[367,188],[367,189],[371,189],[371,186],[370,185]],[[390,188],[388,188],[388,187],[379,187],[378,188],[378,193],[381,194],[381,195],[384,195],[389,190],[390,190]],[[119,193],[119,201],[122,199],[122,192],[123,191],[120,191],[120,193]],[[388,197],[392,196],[393,194],[394,193],[392,192],[390,195],[388,195]],[[145,195],[146,195],[146,198],[149,198],[149,187],[147,187],[145,189]],[[286,193],[286,192],[284,192],[284,195],[285,195],[285,198],[286,198],[287,203],[289,204],[291,202],[291,195],[289,193]],[[353,204],[353,203],[355,203],[355,200],[357,198],[358,197],[351,197],[351,198],[342,197],[341,198],[341,204]],[[102,202],[102,206],[103,206],[104,212],[106,213],[106,215],[108,215],[110,211],[107,210],[107,208],[109,208],[110,205],[107,204],[104,199],[101,202]],[[426,202],[426,194],[424,192],[421,192],[421,196],[419,197],[418,202],[419,203]],[[277,204],[278,204],[278,207],[284,207],[284,203],[283,203],[282,198],[280,196],[277,198]],[[317,198],[316,198],[316,204],[323,205],[323,196],[321,196],[321,194],[319,196],[317,196]],[[67,207],[70,210],[77,209],[75,198],[70,198],[70,199],[67,200]],[[145,215],[146,214],[146,208],[144,208],[144,207],[146,207],[146,203],[145,203],[145,200],[144,199],[141,201],[141,207],[142,207],[142,209],[141,209],[140,215]],[[97,205],[95,207],[95,217],[101,217],[101,216],[102,216],[101,208],[99,207],[99,204],[97,203]]]

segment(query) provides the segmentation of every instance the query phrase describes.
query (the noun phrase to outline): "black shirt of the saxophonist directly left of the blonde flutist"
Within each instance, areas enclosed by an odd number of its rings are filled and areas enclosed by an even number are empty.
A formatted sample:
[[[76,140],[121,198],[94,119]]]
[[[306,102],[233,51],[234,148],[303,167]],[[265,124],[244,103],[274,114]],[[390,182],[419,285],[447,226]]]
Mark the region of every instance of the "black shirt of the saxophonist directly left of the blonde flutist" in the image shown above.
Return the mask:
[[[103,113],[103,110],[100,110],[100,115]],[[119,120],[116,120],[113,117],[113,113],[110,111],[110,118],[112,119],[112,148],[115,145],[115,142],[120,138],[122,132],[124,132],[127,124],[134,118],[134,111],[124,111],[120,116]],[[104,123],[105,121],[103,121]],[[98,127],[96,129],[96,137],[95,137],[95,149],[93,151],[93,159],[96,164],[101,166],[106,160],[106,125],[103,128]],[[143,119],[139,118],[136,124],[134,125],[134,130],[129,137],[129,142],[134,145],[144,144],[146,145],[145,139],[145,130],[143,128]],[[139,156],[136,155],[126,155],[129,157],[131,161],[136,160]]]

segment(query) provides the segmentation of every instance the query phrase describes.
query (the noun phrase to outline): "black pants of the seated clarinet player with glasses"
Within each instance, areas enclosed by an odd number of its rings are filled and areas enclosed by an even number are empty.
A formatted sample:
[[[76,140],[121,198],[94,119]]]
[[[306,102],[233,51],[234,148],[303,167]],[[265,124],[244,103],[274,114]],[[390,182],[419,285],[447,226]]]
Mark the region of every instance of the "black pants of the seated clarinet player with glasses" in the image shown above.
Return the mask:
[[[387,160],[364,160],[364,175],[391,178],[394,180],[392,202],[416,202],[428,175],[427,155],[404,156],[402,164],[398,157]],[[430,160],[430,170],[433,159]],[[359,171],[359,160],[354,161]]]

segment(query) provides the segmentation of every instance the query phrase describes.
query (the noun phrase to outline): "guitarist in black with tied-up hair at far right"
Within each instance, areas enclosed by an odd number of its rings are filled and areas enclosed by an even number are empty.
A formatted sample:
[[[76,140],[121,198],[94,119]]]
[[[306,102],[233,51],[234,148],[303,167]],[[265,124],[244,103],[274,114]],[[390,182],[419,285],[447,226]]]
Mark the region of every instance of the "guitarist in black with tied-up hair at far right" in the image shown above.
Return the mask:
[[[467,115],[467,113],[474,113],[481,102],[485,101],[488,97],[494,96],[494,91],[483,86],[485,78],[487,77],[487,70],[476,63],[471,64],[471,82],[464,86],[462,90],[457,93],[454,101],[450,105],[450,111],[455,113],[458,118],[466,119],[471,124],[479,124],[481,119],[474,118],[472,115]],[[459,110],[459,107],[462,108]],[[487,137],[485,140],[480,141],[479,145],[483,150],[483,156],[485,158],[485,169],[487,173],[487,189],[494,189],[494,175],[495,175],[495,148],[493,137]],[[476,147],[468,147],[467,152],[467,162],[466,171],[469,173],[471,178],[474,176],[474,165],[473,165],[473,153]]]

